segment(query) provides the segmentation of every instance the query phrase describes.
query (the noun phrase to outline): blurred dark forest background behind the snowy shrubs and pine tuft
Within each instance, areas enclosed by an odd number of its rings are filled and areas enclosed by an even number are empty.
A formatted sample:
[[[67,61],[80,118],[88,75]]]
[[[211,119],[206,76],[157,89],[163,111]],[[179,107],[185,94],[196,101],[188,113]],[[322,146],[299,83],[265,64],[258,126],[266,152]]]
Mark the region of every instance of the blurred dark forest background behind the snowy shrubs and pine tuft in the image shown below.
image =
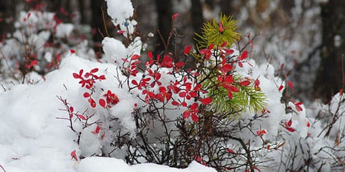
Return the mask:
[[[242,36],[256,36],[250,56],[269,61],[295,84],[295,96],[307,102],[321,98],[325,103],[344,87],[345,1],[344,0],[132,0],[137,33],[147,50],[164,51],[162,40],[170,39],[169,51],[183,53],[194,44],[194,33],[202,23],[221,13],[237,19]],[[56,12],[64,23],[89,39],[101,54],[101,40],[118,35],[101,0],[0,0],[1,40],[10,37],[21,10]],[[103,11],[103,12],[102,12]],[[172,22],[172,14],[179,16]],[[104,19],[104,20],[103,20]],[[105,24],[104,24],[105,23]],[[152,36],[154,35],[154,36]]]

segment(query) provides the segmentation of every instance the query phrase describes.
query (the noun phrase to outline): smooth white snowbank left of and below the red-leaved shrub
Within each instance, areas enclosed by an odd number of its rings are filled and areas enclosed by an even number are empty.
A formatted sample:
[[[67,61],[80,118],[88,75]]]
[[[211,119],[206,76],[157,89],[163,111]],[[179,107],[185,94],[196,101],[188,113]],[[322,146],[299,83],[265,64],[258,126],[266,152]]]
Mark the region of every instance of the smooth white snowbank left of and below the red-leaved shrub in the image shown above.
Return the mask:
[[[99,136],[91,133],[95,125],[86,127],[81,132],[81,144],[77,145],[75,133],[68,128],[62,103],[57,96],[66,98],[75,109],[85,104],[79,96],[80,86],[72,73],[79,69],[99,67],[100,71],[115,68],[115,65],[95,63],[68,54],[61,62],[61,68],[50,72],[46,81],[35,85],[16,85],[8,92],[0,94],[0,164],[6,171],[215,171],[193,162],[187,169],[174,169],[157,164],[138,164],[128,166],[116,158],[88,157],[99,155],[101,142]],[[110,77],[111,75],[107,75]],[[49,89],[47,89],[49,88]],[[128,114],[132,101],[123,99],[123,104],[112,109],[114,114]],[[132,119],[124,120],[124,126],[132,130]],[[77,128],[77,127],[76,127]],[[76,129],[79,130],[79,129]],[[88,158],[77,162],[70,153],[77,150],[77,155]]]

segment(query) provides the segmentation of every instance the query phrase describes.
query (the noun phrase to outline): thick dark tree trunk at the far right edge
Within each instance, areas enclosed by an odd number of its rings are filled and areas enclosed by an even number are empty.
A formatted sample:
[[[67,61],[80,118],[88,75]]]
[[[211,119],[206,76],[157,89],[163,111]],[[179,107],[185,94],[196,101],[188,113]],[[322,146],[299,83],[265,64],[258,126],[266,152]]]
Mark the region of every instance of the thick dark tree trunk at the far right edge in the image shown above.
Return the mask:
[[[345,1],[329,0],[328,3],[322,3],[321,17],[321,63],[314,88],[315,97],[328,102],[332,94],[344,87],[342,54],[345,54]],[[335,36],[342,39],[338,46],[335,45]]]

